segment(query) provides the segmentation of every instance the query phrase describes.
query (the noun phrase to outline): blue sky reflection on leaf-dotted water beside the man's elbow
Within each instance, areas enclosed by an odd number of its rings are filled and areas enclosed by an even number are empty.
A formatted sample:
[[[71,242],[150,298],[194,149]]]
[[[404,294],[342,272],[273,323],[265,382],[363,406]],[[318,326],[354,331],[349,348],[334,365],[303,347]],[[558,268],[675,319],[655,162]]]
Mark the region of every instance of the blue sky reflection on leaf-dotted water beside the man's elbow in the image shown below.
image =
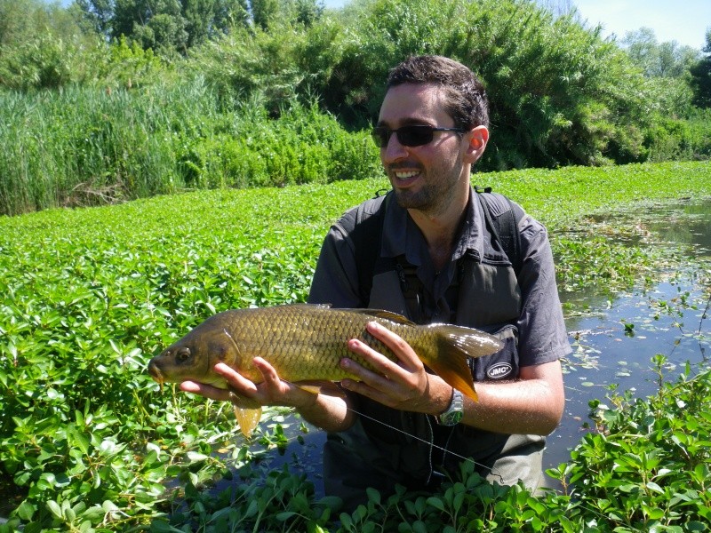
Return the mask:
[[[706,284],[700,285],[699,275],[690,271],[675,282],[624,295],[609,308],[566,321],[575,353],[565,364],[565,416],[549,439],[548,465],[569,458],[569,450],[587,431],[582,424],[588,417],[588,402],[603,400],[610,386],[620,392],[634,391],[637,397],[656,393],[658,376],[651,363],[655,355],[667,357],[667,381],[674,381],[686,362],[707,361],[711,356],[708,273],[700,279]]]

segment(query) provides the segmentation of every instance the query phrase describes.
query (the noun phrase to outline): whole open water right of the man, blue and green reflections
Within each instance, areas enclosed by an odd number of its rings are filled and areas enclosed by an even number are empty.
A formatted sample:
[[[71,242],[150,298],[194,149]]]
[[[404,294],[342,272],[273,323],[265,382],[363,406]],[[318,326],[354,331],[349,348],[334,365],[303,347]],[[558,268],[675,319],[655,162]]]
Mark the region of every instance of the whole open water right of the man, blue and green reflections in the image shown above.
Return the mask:
[[[652,290],[638,289],[615,298],[594,290],[561,295],[571,309],[565,322],[575,354],[565,365],[565,416],[548,440],[548,465],[568,460],[570,449],[587,431],[583,424],[588,419],[588,402],[603,400],[610,386],[620,392],[634,391],[638,397],[657,391],[652,357],[665,355],[667,380],[675,380],[686,362],[704,362],[711,355],[707,316],[711,199],[657,205],[597,221],[633,221],[641,228],[645,243],[685,254],[690,266],[683,272],[666,273],[667,281]],[[583,306],[585,314],[576,314]]]

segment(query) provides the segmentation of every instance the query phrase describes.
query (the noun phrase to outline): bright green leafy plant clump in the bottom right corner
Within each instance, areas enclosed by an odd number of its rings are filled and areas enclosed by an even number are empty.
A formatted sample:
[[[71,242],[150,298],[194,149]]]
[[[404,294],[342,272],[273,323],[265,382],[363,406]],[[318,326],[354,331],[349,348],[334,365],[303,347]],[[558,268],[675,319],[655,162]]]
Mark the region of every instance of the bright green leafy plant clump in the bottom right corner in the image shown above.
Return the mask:
[[[612,407],[591,403],[599,427],[571,453],[570,481],[578,505],[602,530],[705,531],[711,521],[711,386],[708,370],[687,365],[664,380],[659,394],[634,400],[614,394]]]

